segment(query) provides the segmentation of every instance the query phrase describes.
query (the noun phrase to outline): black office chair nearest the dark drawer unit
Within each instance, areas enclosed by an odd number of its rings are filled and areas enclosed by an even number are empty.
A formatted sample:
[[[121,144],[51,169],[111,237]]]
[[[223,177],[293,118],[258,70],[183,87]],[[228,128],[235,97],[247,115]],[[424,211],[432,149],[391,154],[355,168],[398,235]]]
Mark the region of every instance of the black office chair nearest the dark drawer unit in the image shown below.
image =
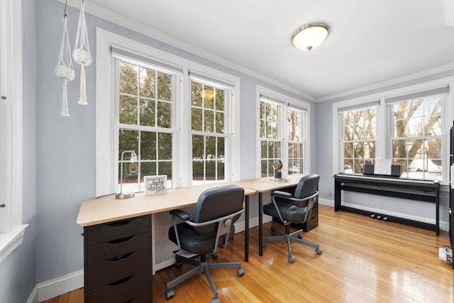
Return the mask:
[[[238,220],[243,212],[244,189],[236,185],[215,187],[203,192],[196,204],[194,218],[189,220],[189,214],[181,209],[170,211],[172,214],[173,226],[169,229],[169,239],[177,244],[179,252],[184,255],[200,255],[200,261],[183,255],[175,255],[178,267],[182,263],[195,266],[189,272],[167,282],[166,299],[175,295],[173,287],[184,282],[189,277],[201,272],[206,275],[214,298],[211,302],[219,302],[218,290],[211,278],[210,268],[236,268],[238,277],[244,275],[241,263],[209,263],[211,258],[217,257],[217,248],[226,248],[227,241],[233,238],[235,226],[233,223]],[[183,221],[177,224],[177,219]]]

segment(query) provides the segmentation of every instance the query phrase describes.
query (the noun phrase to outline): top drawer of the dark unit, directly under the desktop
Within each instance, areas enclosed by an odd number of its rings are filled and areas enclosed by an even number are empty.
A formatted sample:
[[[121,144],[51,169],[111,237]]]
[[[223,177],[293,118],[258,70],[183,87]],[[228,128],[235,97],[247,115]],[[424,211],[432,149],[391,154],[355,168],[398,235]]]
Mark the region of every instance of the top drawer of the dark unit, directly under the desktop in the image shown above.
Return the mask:
[[[150,216],[141,216],[84,228],[87,246],[147,232],[150,232]]]

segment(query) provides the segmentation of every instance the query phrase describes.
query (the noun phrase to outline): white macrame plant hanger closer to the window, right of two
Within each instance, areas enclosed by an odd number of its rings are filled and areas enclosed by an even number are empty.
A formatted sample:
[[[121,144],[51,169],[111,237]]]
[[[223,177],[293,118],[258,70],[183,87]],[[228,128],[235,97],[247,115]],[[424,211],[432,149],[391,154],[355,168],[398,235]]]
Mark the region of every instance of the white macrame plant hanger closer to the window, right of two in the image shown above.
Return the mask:
[[[92,54],[88,43],[87,22],[85,21],[85,3],[82,0],[82,8],[79,14],[76,43],[72,52],[74,61],[80,65],[80,97],[78,104],[87,105],[87,86],[85,81],[85,67],[92,64]]]

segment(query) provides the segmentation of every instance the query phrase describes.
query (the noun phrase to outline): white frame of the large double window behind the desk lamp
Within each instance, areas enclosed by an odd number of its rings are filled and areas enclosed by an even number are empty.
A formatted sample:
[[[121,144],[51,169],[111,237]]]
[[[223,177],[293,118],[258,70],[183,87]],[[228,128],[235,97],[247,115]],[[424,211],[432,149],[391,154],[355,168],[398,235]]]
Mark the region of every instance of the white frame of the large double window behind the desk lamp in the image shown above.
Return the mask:
[[[231,83],[233,86],[232,101],[230,112],[231,119],[231,143],[229,144],[229,175],[226,176],[229,181],[240,180],[240,117],[233,113],[239,109],[240,100],[240,79],[225,72],[214,70],[211,67],[200,65],[183,57],[158,50],[150,45],[145,45],[135,40],[96,28],[96,197],[116,192],[115,181],[115,155],[118,157],[118,147],[115,149],[115,133],[111,123],[115,121],[116,108],[112,100],[115,100],[115,88],[112,77],[114,77],[114,63],[111,57],[111,48],[121,48],[131,54],[142,57],[150,57],[150,60],[162,62],[163,67],[176,67],[182,70],[181,79],[177,83],[177,92],[175,92],[175,136],[173,149],[179,147],[183,150],[191,150],[189,136],[190,127],[190,80],[189,70],[197,72],[198,75],[204,75],[209,79],[220,79],[222,82]],[[146,55],[145,55],[146,54]],[[109,113],[109,114],[106,114]],[[189,126],[189,127],[188,127]],[[173,188],[190,187],[192,180],[192,170],[189,169],[189,163],[192,156],[190,153],[173,153],[174,160],[178,163],[172,167],[172,185]],[[118,170],[118,167],[117,167]],[[118,175],[118,174],[117,174]]]

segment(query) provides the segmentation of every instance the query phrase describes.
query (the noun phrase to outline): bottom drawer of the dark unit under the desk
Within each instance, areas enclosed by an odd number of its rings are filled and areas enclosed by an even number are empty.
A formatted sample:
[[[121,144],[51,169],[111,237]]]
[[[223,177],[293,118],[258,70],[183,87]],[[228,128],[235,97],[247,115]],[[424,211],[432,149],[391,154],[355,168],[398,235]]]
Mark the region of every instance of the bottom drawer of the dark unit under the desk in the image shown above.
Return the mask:
[[[145,301],[143,301],[145,299]],[[140,272],[118,282],[111,283],[88,293],[88,302],[123,303],[151,302],[150,272]]]

